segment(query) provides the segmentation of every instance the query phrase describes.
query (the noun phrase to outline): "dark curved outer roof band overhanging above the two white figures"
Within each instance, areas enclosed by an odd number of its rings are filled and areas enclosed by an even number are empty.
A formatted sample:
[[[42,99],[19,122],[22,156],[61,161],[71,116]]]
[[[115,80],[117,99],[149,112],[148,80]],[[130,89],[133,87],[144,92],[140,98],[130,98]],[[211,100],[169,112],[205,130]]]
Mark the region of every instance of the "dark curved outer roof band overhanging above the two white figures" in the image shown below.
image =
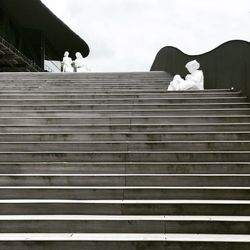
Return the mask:
[[[84,57],[88,56],[87,43],[40,0],[0,0],[0,4],[4,11],[20,26],[43,31],[58,55],[63,55],[66,50],[70,49],[71,51],[80,51]]]

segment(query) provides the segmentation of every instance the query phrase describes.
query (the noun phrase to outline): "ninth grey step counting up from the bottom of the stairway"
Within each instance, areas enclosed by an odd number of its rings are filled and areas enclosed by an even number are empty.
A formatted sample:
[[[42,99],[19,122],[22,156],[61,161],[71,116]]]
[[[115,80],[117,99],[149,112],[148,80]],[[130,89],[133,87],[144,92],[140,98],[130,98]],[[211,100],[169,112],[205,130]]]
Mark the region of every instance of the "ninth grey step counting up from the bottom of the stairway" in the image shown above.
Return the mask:
[[[248,141],[250,131],[235,132],[44,132],[0,133],[0,142],[32,141]]]

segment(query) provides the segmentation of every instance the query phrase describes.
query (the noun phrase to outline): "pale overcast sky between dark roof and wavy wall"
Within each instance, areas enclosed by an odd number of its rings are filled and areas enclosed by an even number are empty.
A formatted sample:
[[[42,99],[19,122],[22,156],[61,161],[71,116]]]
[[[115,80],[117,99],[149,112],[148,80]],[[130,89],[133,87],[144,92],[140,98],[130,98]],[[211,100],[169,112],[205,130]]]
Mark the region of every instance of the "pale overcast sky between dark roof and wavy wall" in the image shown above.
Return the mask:
[[[42,2],[88,43],[92,71],[148,71],[167,45],[200,54],[231,39],[250,41],[250,0]]]

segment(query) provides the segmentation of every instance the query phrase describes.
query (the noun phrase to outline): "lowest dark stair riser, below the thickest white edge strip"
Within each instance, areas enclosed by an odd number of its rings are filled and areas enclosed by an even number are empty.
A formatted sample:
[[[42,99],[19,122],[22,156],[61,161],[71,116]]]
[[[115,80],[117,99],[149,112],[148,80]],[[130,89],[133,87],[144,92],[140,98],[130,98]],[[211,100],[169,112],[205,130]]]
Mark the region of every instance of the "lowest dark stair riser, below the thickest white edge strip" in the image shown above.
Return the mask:
[[[192,249],[192,250],[249,250],[249,242],[232,243],[232,242],[165,242],[165,241],[150,241],[142,242],[136,240],[127,241],[100,241],[98,239],[92,241],[2,241],[0,242],[1,249],[4,250],[69,250],[69,249],[88,249],[88,250],[103,250],[105,249],[120,249],[120,250],[176,250],[176,249]]]

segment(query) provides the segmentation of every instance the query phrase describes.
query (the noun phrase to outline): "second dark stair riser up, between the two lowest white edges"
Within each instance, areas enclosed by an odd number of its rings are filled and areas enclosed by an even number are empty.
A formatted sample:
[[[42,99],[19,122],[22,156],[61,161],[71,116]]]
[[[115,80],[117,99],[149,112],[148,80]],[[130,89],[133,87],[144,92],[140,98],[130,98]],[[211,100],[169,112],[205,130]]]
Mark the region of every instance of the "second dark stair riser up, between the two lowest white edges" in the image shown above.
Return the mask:
[[[204,226],[204,223],[206,225]],[[70,228],[70,230],[69,230]],[[248,234],[250,222],[218,221],[0,221],[0,233]]]

